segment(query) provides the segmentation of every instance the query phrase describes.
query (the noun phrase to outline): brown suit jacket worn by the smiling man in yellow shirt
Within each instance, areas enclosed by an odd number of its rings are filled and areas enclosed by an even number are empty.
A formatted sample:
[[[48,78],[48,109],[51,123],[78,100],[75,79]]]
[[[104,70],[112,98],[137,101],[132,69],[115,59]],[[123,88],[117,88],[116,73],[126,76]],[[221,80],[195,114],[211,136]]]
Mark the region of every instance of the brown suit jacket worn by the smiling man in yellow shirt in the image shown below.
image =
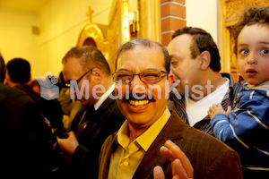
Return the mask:
[[[154,166],[161,166],[167,179],[172,178],[169,160],[159,151],[165,141],[175,142],[194,167],[195,179],[241,178],[239,155],[221,141],[185,124],[175,112],[147,150],[133,178],[153,178]],[[111,153],[117,149],[117,133],[110,135],[100,151],[99,179],[108,178]]]

